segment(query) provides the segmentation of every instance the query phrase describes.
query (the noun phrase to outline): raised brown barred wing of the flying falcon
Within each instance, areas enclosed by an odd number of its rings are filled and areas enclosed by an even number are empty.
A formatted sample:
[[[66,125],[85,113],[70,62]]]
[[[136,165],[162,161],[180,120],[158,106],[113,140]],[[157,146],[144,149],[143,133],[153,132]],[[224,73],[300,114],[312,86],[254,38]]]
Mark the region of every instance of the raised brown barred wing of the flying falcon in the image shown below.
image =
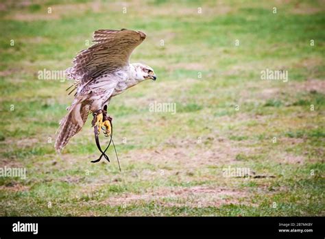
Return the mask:
[[[132,51],[145,37],[143,32],[129,29],[97,30],[93,36],[96,44],[78,53],[66,75],[77,85],[84,85],[103,73],[127,66]]]

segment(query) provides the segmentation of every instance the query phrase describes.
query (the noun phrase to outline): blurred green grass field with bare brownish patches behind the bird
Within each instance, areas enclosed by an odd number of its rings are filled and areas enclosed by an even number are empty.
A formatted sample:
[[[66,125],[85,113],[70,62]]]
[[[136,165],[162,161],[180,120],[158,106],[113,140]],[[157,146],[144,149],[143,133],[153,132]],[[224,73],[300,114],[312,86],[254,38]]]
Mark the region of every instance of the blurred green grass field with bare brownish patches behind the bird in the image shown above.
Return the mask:
[[[324,1],[177,2],[1,1],[0,166],[27,168],[0,177],[1,216],[325,215]],[[158,79],[110,103],[120,173],[113,149],[90,162],[91,117],[55,152],[71,82],[38,71],[121,28],[147,34],[131,62]]]

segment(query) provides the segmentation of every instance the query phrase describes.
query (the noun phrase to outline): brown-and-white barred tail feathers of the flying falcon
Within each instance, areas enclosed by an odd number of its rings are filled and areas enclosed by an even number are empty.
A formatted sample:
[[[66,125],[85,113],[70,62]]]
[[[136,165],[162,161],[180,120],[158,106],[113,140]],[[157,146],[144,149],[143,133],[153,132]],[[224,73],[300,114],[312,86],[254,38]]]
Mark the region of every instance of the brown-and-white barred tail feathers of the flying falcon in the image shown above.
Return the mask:
[[[60,121],[58,137],[54,145],[56,151],[60,152],[64,146],[67,145],[70,138],[82,129],[84,123],[86,123],[87,117],[88,108],[82,103],[77,103],[69,109],[68,114]]]

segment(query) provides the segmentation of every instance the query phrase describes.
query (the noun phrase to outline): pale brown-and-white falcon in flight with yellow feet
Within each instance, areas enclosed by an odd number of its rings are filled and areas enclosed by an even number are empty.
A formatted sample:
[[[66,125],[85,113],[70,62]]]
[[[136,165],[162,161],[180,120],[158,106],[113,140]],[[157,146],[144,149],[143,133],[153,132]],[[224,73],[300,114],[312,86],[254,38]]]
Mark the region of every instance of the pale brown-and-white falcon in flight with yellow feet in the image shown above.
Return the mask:
[[[67,68],[66,75],[74,79],[75,99],[67,108],[68,113],[60,121],[55,148],[60,152],[69,139],[77,134],[88,114],[96,112],[98,129],[106,127],[102,111],[110,99],[146,79],[156,80],[154,70],[141,63],[129,63],[132,51],[145,40],[143,32],[130,29],[99,29],[94,32],[95,45],[80,51]]]

